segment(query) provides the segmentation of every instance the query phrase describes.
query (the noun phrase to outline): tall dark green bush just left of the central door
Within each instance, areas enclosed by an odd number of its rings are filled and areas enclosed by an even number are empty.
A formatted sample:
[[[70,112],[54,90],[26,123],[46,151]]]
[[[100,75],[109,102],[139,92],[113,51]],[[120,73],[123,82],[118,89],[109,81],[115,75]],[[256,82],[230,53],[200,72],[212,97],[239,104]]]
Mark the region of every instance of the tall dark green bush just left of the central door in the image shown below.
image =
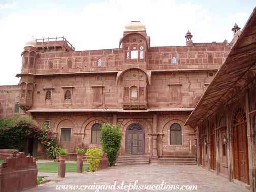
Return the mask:
[[[103,151],[108,155],[109,167],[115,164],[117,152],[121,147],[122,132],[119,126],[103,124],[101,130],[101,145]]]

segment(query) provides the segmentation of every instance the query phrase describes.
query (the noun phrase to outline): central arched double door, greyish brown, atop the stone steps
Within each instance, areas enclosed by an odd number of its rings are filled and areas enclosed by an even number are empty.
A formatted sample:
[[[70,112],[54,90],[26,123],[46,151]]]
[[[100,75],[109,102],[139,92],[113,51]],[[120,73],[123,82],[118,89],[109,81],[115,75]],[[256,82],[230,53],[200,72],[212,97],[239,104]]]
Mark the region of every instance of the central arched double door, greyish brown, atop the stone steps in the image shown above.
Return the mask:
[[[145,134],[142,126],[132,123],[127,127],[125,137],[126,154],[144,154]]]

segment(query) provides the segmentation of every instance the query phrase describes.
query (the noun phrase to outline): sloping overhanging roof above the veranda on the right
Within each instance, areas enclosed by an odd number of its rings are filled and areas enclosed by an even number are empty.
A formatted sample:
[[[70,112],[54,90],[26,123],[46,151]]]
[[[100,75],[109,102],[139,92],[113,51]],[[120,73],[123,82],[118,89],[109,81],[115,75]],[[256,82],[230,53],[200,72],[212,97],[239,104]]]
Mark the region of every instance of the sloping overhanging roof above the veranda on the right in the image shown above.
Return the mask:
[[[231,103],[256,79],[256,7],[216,76],[185,124],[199,125],[216,111]]]

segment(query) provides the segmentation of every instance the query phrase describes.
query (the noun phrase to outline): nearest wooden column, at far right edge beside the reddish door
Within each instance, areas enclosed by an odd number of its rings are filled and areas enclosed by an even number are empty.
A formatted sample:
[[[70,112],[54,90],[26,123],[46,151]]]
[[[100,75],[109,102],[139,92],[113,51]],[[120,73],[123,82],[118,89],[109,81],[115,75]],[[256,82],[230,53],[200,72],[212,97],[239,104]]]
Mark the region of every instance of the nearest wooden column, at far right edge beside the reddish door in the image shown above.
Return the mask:
[[[250,191],[255,191],[255,183],[254,183],[254,151],[255,146],[253,145],[253,127],[251,127],[251,121],[250,121],[250,100],[249,100],[249,91],[245,94],[245,113],[246,113],[246,125],[247,125],[247,142],[248,142],[248,163],[249,163],[249,182],[250,182]]]

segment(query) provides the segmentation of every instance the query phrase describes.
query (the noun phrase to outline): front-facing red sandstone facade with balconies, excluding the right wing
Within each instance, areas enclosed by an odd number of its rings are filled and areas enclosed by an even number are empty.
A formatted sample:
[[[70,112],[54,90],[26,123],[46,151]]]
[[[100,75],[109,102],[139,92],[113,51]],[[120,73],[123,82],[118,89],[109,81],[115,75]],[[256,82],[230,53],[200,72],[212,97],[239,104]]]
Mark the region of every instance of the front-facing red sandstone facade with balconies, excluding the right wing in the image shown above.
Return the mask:
[[[116,49],[75,51],[65,38],[31,40],[19,85],[0,87],[0,114],[15,115],[18,104],[17,114],[49,125],[70,153],[100,147],[97,127],[111,123],[123,132],[122,154],[195,155],[196,135],[184,122],[231,44],[193,43],[190,33],[186,40],[151,47],[138,21],[126,26]],[[37,147],[34,156],[41,155]]]

